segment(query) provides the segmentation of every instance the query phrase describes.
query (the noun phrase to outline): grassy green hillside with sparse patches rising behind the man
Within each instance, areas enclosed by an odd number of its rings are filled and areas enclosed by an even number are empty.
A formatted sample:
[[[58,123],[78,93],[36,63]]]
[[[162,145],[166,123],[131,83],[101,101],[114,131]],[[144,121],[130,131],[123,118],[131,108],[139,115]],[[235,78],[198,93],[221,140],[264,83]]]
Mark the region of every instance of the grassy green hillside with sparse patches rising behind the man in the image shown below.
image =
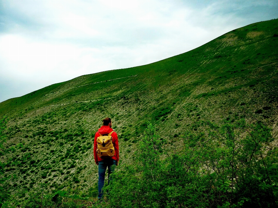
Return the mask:
[[[96,196],[94,133],[105,117],[118,133],[120,163],[133,161],[150,121],[169,151],[198,120],[252,117],[277,138],[278,20],[235,29],[152,64],[84,75],[0,103],[8,117],[3,177],[20,203],[47,184]],[[249,116],[248,116],[249,115]],[[195,129],[197,130],[197,129]],[[16,165],[13,165],[16,164]]]

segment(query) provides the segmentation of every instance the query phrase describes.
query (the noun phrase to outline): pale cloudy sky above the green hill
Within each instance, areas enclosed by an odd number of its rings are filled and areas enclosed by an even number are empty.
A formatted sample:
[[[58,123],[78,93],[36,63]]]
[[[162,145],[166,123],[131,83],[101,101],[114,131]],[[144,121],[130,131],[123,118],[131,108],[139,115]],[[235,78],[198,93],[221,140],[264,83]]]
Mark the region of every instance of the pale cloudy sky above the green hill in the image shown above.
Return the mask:
[[[0,102],[274,18],[277,0],[0,0]]]

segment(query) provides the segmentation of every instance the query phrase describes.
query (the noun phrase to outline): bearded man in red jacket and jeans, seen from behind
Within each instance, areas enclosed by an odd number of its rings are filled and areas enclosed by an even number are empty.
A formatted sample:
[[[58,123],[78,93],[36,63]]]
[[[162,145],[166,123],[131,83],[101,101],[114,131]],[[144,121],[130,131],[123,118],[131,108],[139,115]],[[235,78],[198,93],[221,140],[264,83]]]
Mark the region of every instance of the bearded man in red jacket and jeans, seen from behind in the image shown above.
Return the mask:
[[[117,133],[114,131],[111,134],[112,137],[112,143],[114,145],[115,148],[115,154],[114,156],[110,157],[110,158],[100,158],[98,157],[97,154],[97,147],[98,147],[98,143],[97,143],[97,138],[100,136],[100,134],[102,136],[104,135],[108,135],[111,131],[113,131],[113,129],[111,129],[112,126],[112,121],[111,118],[105,118],[102,120],[103,121],[103,126],[100,127],[98,129],[98,131],[95,134],[95,141],[94,141],[94,158],[95,158],[95,162],[98,165],[98,199],[100,200],[103,196],[103,185],[104,185],[104,177],[105,177],[105,171],[106,168],[108,167],[108,185],[109,185],[109,175],[110,173],[112,173],[114,171],[113,169],[113,165],[118,166],[118,162],[119,162],[119,145],[118,145],[118,135]]]

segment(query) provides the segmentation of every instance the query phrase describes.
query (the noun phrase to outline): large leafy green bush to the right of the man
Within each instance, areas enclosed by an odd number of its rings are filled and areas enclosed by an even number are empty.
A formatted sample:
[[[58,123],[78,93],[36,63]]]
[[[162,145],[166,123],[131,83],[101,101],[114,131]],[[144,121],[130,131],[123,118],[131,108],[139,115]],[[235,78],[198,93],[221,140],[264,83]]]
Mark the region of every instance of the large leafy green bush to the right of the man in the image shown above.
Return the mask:
[[[111,175],[105,206],[277,207],[278,152],[268,150],[266,125],[199,122],[183,140],[182,153],[161,159],[164,141],[149,124],[135,165]]]

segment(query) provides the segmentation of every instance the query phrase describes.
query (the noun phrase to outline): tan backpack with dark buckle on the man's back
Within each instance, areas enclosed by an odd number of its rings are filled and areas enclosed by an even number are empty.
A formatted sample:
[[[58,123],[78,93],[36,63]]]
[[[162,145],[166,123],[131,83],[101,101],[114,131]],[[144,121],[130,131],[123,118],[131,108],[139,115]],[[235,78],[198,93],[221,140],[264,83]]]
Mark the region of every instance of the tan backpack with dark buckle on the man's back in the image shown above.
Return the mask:
[[[111,131],[107,136],[101,135],[99,132],[99,137],[96,139],[98,143],[98,148],[96,149],[96,153],[100,158],[109,158],[115,155],[115,148],[112,143],[111,134],[114,131]]]

